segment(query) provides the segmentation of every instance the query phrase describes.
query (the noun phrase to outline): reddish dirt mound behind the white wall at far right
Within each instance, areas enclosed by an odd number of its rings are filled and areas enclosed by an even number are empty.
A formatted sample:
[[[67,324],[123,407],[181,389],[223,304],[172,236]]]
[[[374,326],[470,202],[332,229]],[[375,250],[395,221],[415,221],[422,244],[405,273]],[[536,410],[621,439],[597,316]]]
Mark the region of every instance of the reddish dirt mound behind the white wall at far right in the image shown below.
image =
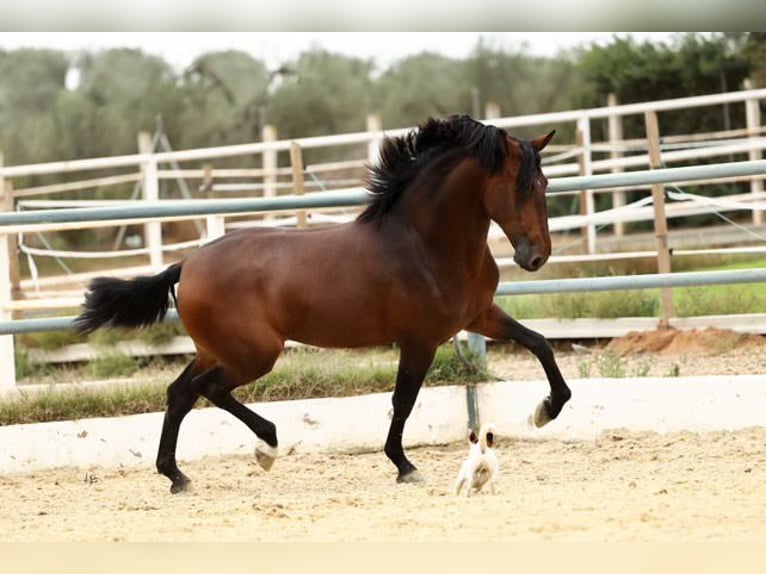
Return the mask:
[[[749,333],[737,333],[726,329],[657,329],[655,331],[631,332],[624,337],[612,339],[606,346],[618,355],[659,353],[661,355],[704,356],[721,353],[766,348],[766,338]]]

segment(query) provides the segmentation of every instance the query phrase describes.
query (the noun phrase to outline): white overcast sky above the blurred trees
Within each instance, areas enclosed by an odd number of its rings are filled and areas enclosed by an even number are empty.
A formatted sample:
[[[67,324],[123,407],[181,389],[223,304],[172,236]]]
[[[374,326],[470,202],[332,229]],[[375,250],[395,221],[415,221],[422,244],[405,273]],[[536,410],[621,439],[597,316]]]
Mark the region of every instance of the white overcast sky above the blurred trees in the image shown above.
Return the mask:
[[[668,41],[671,32],[0,32],[0,49],[55,48],[76,52],[115,47],[141,48],[162,56],[178,69],[201,53],[238,49],[271,67],[320,46],[332,52],[372,58],[380,67],[425,50],[450,57],[467,56],[480,36],[493,46],[553,56],[615,35]]]

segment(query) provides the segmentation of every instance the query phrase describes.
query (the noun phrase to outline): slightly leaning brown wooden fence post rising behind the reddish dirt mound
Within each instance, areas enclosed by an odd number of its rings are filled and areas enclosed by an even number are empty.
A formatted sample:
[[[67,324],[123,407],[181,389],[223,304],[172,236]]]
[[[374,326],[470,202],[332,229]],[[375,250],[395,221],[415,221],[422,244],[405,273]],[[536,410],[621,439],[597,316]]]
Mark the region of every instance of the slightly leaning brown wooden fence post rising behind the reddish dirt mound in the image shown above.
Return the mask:
[[[646,139],[649,144],[649,163],[652,169],[662,167],[660,153],[660,127],[657,122],[657,112],[644,112],[646,124]],[[670,249],[668,248],[668,220],[665,216],[665,186],[661,183],[652,185],[654,202],[654,235],[657,241],[657,272],[670,273]],[[674,316],[673,289],[662,289],[662,315],[660,327],[667,328],[669,320]]]

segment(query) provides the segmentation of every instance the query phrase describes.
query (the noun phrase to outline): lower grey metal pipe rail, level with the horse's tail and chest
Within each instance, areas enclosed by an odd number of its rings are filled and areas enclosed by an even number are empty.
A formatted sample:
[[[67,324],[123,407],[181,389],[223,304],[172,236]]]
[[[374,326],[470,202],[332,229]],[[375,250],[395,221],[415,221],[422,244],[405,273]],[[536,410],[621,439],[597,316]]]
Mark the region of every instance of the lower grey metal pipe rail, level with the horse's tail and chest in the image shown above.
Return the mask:
[[[661,287],[759,283],[762,281],[766,281],[766,269],[656,273],[652,275],[620,275],[615,277],[582,277],[577,279],[503,282],[498,285],[495,295],[619,291],[623,289],[657,289]],[[166,320],[173,321],[177,319],[178,314],[174,309],[168,311]],[[74,317],[2,321],[0,322],[0,335],[16,335],[20,333],[57,331],[72,328],[74,328]]]

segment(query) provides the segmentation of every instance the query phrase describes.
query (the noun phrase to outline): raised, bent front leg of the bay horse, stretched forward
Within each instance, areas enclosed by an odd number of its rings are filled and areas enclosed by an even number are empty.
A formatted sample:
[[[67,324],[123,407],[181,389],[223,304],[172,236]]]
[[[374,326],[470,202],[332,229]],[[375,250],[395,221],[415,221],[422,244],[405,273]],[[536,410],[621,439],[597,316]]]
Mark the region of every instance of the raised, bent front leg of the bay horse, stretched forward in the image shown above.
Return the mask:
[[[492,305],[477,317],[467,329],[491,339],[516,341],[531,351],[540,361],[548,377],[548,383],[551,385],[551,394],[543,399],[535,409],[535,425],[541,427],[559,415],[564,404],[572,396],[572,391],[569,390],[564,377],[561,376],[556,359],[553,357],[553,350],[545,337],[527,329],[497,305]]]

